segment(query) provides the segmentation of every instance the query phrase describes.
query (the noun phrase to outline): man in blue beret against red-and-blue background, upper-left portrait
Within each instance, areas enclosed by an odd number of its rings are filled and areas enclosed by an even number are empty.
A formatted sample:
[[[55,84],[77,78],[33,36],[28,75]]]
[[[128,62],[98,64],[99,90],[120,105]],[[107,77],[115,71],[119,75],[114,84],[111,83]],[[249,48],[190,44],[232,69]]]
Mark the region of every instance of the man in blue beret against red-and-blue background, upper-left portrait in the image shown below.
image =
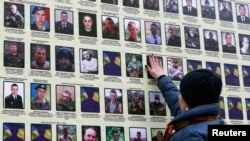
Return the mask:
[[[46,8],[35,6],[33,8],[32,14],[34,14],[35,22],[31,24],[31,30],[47,31],[50,29],[48,26],[45,26],[46,22]]]

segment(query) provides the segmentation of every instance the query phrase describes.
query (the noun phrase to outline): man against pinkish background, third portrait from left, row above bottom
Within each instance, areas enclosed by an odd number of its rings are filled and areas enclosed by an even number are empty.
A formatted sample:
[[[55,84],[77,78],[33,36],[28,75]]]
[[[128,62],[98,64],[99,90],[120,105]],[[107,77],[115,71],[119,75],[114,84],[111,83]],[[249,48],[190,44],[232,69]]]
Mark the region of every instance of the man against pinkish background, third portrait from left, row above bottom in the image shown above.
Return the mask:
[[[58,111],[75,111],[75,101],[71,98],[71,92],[64,90],[61,98],[56,104],[56,110]]]

